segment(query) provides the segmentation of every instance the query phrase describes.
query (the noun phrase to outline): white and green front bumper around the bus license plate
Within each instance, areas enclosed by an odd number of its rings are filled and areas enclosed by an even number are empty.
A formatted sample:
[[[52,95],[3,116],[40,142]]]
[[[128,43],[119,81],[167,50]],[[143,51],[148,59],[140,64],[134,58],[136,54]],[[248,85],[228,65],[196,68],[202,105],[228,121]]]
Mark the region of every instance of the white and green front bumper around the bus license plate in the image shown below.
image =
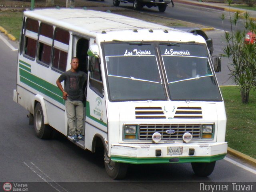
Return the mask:
[[[182,155],[167,155],[167,147],[183,147]],[[189,155],[189,149],[194,154]],[[227,154],[227,142],[176,143],[176,144],[112,144],[110,157],[114,162],[130,164],[213,162],[223,159]],[[161,155],[156,156],[156,150]]]

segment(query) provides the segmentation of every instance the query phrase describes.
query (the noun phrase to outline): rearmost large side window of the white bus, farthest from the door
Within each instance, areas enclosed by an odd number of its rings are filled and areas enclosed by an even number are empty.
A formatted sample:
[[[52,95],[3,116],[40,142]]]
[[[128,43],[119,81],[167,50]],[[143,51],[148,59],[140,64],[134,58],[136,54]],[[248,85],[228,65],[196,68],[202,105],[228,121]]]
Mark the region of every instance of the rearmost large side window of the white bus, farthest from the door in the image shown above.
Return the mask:
[[[36,58],[36,42],[38,38],[38,21],[28,18],[25,24],[25,39],[23,53],[30,59]]]

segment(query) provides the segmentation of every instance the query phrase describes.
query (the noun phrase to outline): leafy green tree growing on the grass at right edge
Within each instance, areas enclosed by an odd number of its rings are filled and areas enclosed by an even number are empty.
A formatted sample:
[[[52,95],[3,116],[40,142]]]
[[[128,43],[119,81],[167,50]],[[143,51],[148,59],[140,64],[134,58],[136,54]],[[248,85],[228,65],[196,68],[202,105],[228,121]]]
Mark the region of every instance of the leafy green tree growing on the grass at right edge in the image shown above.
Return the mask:
[[[232,0],[227,0],[227,3],[230,6]],[[224,21],[224,14],[221,18]],[[240,87],[242,103],[248,103],[250,90],[256,88],[256,44],[246,44],[244,37],[248,31],[255,32],[256,25],[249,19],[247,12],[244,13],[244,18],[244,28],[235,30],[240,14],[238,12],[235,12],[234,16],[229,14],[231,32],[225,31],[227,45],[223,48],[223,56],[230,59],[230,74],[236,85]]]

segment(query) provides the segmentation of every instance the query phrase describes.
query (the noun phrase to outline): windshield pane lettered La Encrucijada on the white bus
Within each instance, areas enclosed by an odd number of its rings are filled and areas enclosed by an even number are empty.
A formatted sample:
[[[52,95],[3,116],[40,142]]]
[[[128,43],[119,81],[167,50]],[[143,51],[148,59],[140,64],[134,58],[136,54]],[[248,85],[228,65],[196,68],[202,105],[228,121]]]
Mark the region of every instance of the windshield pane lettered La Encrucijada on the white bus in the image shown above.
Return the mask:
[[[222,101],[203,44],[160,44],[171,100]]]

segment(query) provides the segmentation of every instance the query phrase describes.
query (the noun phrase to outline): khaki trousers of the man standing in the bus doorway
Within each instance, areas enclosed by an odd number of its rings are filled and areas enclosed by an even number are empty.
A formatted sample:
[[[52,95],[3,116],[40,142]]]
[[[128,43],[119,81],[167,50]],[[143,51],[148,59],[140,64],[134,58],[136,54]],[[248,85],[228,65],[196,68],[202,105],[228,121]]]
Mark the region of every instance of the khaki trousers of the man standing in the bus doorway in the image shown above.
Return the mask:
[[[66,113],[68,117],[69,135],[82,134],[84,120],[84,104],[82,101],[65,102]]]

